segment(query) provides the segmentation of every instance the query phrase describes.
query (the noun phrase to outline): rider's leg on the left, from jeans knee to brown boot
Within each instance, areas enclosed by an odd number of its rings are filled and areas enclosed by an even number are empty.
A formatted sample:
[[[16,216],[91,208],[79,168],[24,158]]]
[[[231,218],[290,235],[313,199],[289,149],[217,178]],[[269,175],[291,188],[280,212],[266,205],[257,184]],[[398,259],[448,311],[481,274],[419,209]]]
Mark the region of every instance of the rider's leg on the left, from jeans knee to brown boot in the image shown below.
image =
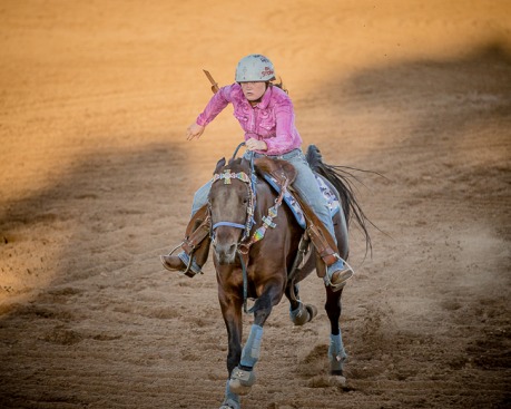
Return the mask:
[[[181,244],[181,251],[173,255],[161,255],[160,261],[165,269],[170,271],[186,271],[190,265],[188,276],[194,276],[202,273],[202,266],[206,263],[209,252],[209,240],[207,238],[209,231],[209,221],[204,212],[207,204],[207,195],[212,187],[212,182],[202,186],[194,195],[191,205],[191,218],[186,228],[186,238]],[[195,233],[195,235],[193,234]],[[206,240],[204,240],[206,238]],[[191,264],[190,264],[190,254]]]

